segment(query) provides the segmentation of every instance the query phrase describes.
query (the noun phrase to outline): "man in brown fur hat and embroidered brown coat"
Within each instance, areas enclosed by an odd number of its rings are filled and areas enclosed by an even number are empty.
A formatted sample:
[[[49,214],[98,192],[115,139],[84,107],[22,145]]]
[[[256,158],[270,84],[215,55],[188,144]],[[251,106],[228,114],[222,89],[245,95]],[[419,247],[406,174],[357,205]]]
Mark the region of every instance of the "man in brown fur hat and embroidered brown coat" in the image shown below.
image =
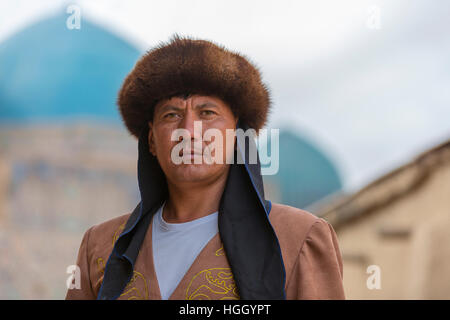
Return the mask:
[[[67,299],[345,298],[331,225],[265,199],[252,139],[212,152],[203,137],[264,126],[269,92],[246,58],[175,36],[138,61],[118,104],[139,141],[141,201],[85,233]],[[180,130],[189,148],[176,149]],[[185,162],[207,150],[213,163]]]

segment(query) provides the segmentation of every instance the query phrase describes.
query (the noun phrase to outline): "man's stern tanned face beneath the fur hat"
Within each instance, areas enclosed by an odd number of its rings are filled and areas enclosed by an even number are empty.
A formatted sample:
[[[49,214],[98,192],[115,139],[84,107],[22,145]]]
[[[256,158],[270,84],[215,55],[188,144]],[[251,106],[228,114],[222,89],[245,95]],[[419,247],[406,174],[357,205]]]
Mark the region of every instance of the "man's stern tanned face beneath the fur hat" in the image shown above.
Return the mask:
[[[197,130],[194,130],[195,122],[197,122]],[[201,130],[198,130],[200,123]],[[236,123],[237,118],[233,115],[229,106],[217,97],[192,95],[187,99],[173,97],[162,100],[156,104],[153,120],[149,122],[150,152],[157,157],[168,181],[173,184],[192,182],[201,184],[214,181],[228,172],[225,159],[234,153],[234,139],[226,143],[226,130],[234,130]],[[194,157],[201,156],[184,154],[185,152],[181,151],[179,155],[190,158],[191,163],[174,163],[172,149],[181,140],[172,141],[172,134],[177,129],[184,129],[185,133],[189,133],[192,152],[200,151],[194,150],[195,146],[200,146],[203,153],[205,153],[205,148],[208,148],[208,145],[215,140],[212,138],[211,141],[203,141],[202,137],[205,131],[208,129],[219,130],[223,137],[223,143],[221,144],[222,161],[208,164],[202,159],[201,163],[197,164],[194,163]],[[220,146],[220,144],[216,143],[217,146]],[[216,156],[216,154],[220,155],[212,149],[211,155]]]

